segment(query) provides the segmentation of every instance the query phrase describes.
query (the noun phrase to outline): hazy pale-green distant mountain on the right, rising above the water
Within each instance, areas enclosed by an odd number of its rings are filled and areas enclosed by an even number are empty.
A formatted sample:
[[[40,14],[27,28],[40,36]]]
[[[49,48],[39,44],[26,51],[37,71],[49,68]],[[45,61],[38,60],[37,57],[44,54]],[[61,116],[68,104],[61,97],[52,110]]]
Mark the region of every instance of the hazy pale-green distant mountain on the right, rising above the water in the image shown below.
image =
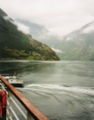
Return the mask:
[[[94,22],[65,36],[60,49],[65,60],[94,60]]]

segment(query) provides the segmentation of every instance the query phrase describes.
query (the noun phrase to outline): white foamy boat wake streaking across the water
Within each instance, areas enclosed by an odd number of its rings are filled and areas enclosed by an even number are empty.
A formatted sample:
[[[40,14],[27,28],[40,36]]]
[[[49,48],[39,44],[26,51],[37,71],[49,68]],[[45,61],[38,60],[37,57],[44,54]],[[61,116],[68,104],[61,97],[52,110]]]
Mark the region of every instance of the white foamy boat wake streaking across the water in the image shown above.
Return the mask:
[[[65,87],[61,85],[52,85],[52,84],[31,84],[26,86],[25,89],[31,89],[31,90],[60,90],[60,91],[68,91],[68,92],[74,92],[74,93],[83,93],[83,94],[89,94],[94,95],[94,90],[89,87]]]

